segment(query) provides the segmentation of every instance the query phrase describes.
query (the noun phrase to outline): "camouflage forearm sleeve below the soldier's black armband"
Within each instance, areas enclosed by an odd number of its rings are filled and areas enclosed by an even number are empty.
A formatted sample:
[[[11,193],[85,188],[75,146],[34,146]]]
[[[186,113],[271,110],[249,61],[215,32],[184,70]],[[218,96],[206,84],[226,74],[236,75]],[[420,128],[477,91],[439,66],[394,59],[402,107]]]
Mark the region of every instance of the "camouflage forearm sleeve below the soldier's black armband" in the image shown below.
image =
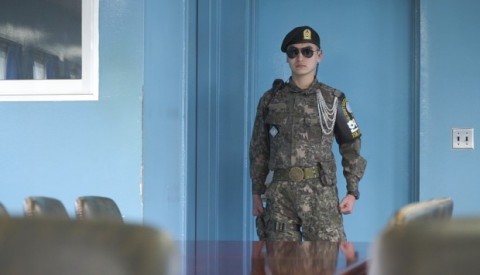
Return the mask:
[[[361,139],[340,144],[343,175],[347,181],[347,193],[359,198],[358,183],[363,177],[367,161],[360,155]]]

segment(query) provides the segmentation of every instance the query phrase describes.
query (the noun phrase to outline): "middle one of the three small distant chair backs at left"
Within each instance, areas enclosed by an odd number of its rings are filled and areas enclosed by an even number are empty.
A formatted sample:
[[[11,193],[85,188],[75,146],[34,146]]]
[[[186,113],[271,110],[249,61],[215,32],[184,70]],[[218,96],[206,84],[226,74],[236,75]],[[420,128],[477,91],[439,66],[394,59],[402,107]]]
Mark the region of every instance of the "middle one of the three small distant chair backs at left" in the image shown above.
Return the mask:
[[[32,196],[25,199],[24,213],[27,217],[69,219],[63,203],[55,198]]]

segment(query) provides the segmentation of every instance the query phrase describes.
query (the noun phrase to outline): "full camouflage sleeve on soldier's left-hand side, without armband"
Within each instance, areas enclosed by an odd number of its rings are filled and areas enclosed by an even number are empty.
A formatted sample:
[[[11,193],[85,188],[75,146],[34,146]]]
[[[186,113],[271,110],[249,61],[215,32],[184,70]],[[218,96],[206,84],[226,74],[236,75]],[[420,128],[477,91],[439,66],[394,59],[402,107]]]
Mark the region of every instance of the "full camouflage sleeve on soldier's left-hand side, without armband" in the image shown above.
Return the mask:
[[[265,193],[265,180],[268,175],[270,144],[268,126],[265,123],[267,102],[271,95],[266,93],[259,101],[250,140],[250,177],[252,179],[252,194]]]

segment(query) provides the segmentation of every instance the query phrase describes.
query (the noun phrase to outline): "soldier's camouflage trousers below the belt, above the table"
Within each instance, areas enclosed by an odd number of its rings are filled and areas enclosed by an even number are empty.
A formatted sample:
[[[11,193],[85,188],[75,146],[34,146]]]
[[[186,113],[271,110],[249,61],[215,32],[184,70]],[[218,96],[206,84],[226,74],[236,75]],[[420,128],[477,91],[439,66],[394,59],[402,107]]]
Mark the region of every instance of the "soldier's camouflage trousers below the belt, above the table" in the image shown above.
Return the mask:
[[[346,240],[336,186],[322,186],[318,178],[274,181],[265,197],[266,240]]]

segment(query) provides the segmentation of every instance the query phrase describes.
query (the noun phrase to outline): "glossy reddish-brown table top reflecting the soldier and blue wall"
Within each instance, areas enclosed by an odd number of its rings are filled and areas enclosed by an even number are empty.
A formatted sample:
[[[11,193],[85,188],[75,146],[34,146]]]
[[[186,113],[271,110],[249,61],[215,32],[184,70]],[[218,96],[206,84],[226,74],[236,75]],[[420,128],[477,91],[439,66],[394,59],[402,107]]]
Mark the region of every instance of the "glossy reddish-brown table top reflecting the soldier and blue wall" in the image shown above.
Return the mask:
[[[368,243],[361,242],[242,242],[184,243],[188,275],[355,274],[366,268]]]

